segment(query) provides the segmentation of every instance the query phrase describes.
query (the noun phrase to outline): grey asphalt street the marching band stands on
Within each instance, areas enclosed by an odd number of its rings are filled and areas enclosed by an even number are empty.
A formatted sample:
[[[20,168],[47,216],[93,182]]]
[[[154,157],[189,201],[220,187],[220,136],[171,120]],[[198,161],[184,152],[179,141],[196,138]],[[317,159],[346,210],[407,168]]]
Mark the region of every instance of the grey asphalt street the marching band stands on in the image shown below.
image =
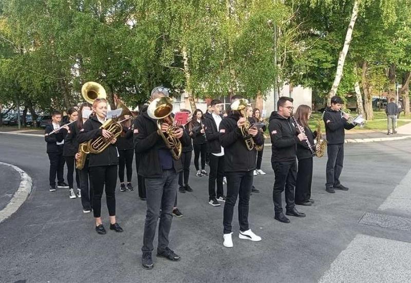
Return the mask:
[[[197,178],[192,170],[194,191],[178,193],[184,217],[173,219],[170,234],[170,247],[181,260],[154,256],[154,270],[146,271],[140,250],[145,203],[137,190],[117,190],[117,216],[124,233],[98,235],[92,214],[83,214],[79,199],[70,200],[68,190],[48,191],[44,138],[0,134],[0,162],[22,168],[34,184],[26,203],[0,223],[0,282],[348,282],[361,281],[348,273],[365,274],[366,281],[372,281],[370,273],[378,270],[385,272],[381,282],[409,281],[411,275],[398,262],[411,259],[411,213],[405,206],[390,206],[410,193],[409,182],[408,187],[401,183],[411,168],[409,144],[406,139],[347,144],[342,182],[350,190],[335,194],[324,190],[326,157],[316,158],[315,204],[298,206],[307,217],[291,217],[290,224],[273,218],[274,176],[271,150],[266,147],[263,170],[267,175],[254,179],[261,193],[251,196],[249,217],[251,228],[263,240],[238,239],[235,214],[232,249],[222,246],[223,206],[208,204],[208,178]],[[6,177],[0,174],[0,186],[10,184]],[[133,184],[137,186],[135,171]],[[107,227],[105,205],[102,217]],[[401,225],[381,224],[393,217]],[[377,254],[379,261],[358,264]],[[376,264],[381,269],[375,269]]]

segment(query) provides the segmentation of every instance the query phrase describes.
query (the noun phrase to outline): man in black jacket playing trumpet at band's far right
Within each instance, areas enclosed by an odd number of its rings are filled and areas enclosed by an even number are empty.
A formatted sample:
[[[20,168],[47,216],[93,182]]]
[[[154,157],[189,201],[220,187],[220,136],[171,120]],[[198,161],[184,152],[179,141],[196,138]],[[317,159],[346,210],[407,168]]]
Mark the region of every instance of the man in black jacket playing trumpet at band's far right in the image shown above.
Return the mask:
[[[342,105],[343,100],[340,97],[331,97],[331,107],[326,108],[323,117],[328,141],[325,190],[329,193],[335,193],[335,189],[348,190],[340,183],[340,175],[344,164],[344,129],[350,130],[356,125],[348,122],[349,115],[340,111]]]

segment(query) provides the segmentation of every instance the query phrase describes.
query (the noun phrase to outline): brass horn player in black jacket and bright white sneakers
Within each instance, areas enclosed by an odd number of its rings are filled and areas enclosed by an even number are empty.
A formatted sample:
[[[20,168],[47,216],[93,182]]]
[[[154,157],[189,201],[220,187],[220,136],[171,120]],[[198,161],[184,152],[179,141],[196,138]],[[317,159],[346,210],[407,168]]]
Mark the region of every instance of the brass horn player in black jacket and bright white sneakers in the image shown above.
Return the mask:
[[[241,96],[236,95],[232,98],[232,101],[241,98]],[[237,196],[239,197],[238,222],[240,224],[238,238],[255,242],[261,241],[261,237],[255,235],[248,225],[248,207],[257,151],[255,148],[248,150],[246,147],[245,139],[241,133],[241,128],[245,127],[246,121],[247,117],[242,117],[238,111],[232,110],[230,115],[221,120],[219,127],[220,143],[224,148],[224,166],[227,177],[227,198],[223,214],[223,245],[226,247],[233,246],[231,222],[233,221]],[[263,136],[257,128],[248,129],[248,133],[252,136],[256,145],[263,144]]]

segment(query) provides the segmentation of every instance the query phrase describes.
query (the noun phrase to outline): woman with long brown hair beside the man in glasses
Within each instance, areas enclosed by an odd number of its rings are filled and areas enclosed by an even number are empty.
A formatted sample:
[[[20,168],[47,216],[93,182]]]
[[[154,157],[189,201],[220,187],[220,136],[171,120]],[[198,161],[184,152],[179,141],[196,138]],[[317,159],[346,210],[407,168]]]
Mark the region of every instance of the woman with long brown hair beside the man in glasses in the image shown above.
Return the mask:
[[[311,116],[311,107],[308,105],[300,105],[295,112],[295,119],[304,127],[305,135],[310,141],[311,145],[314,145],[314,133],[308,127],[308,119]],[[320,145],[316,145],[317,148]],[[311,200],[311,183],[312,183],[312,164],[313,154],[308,148],[305,140],[300,140],[297,143],[297,179],[295,182],[295,204],[310,206],[314,201]]]

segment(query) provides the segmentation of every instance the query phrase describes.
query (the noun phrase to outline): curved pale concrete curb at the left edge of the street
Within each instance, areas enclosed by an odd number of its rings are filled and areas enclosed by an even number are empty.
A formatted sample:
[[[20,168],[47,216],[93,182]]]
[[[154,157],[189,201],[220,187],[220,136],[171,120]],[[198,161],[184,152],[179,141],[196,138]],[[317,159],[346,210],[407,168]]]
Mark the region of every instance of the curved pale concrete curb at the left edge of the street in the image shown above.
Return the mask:
[[[2,223],[5,219],[9,218],[13,213],[17,211],[20,206],[27,200],[28,196],[33,189],[33,180],[31,177],[22,169],[18,168],[17,166],[0,162],[0,165],[6,165],[18,173],[20,173],[20,185],[18,186],[17,191],[14,193],[11,200],[7,203],[6,207],[0,210],[0,223]]]

